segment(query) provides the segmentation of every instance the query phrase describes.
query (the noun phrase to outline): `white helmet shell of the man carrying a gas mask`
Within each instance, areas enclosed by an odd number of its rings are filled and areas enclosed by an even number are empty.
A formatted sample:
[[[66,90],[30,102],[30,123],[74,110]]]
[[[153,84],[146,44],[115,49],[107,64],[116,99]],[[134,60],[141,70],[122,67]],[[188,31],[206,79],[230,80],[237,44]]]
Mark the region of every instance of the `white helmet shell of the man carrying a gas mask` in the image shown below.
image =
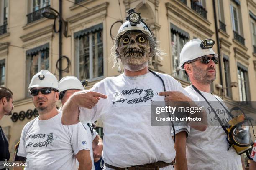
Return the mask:
[[[211,47],[203,49],[200,46],[201,42],[202,40],[197,38],[197,39],[190,40],[184,45],[179,55],[179,67],[182,70],[184,70],[183,66],[187,61],[194,60],[196,58],[199,58],[205,55],[210,55],[210,54],[214,54],[215,57],[219,56],[218,54],[215,54],[215,52],[212,50]]]

